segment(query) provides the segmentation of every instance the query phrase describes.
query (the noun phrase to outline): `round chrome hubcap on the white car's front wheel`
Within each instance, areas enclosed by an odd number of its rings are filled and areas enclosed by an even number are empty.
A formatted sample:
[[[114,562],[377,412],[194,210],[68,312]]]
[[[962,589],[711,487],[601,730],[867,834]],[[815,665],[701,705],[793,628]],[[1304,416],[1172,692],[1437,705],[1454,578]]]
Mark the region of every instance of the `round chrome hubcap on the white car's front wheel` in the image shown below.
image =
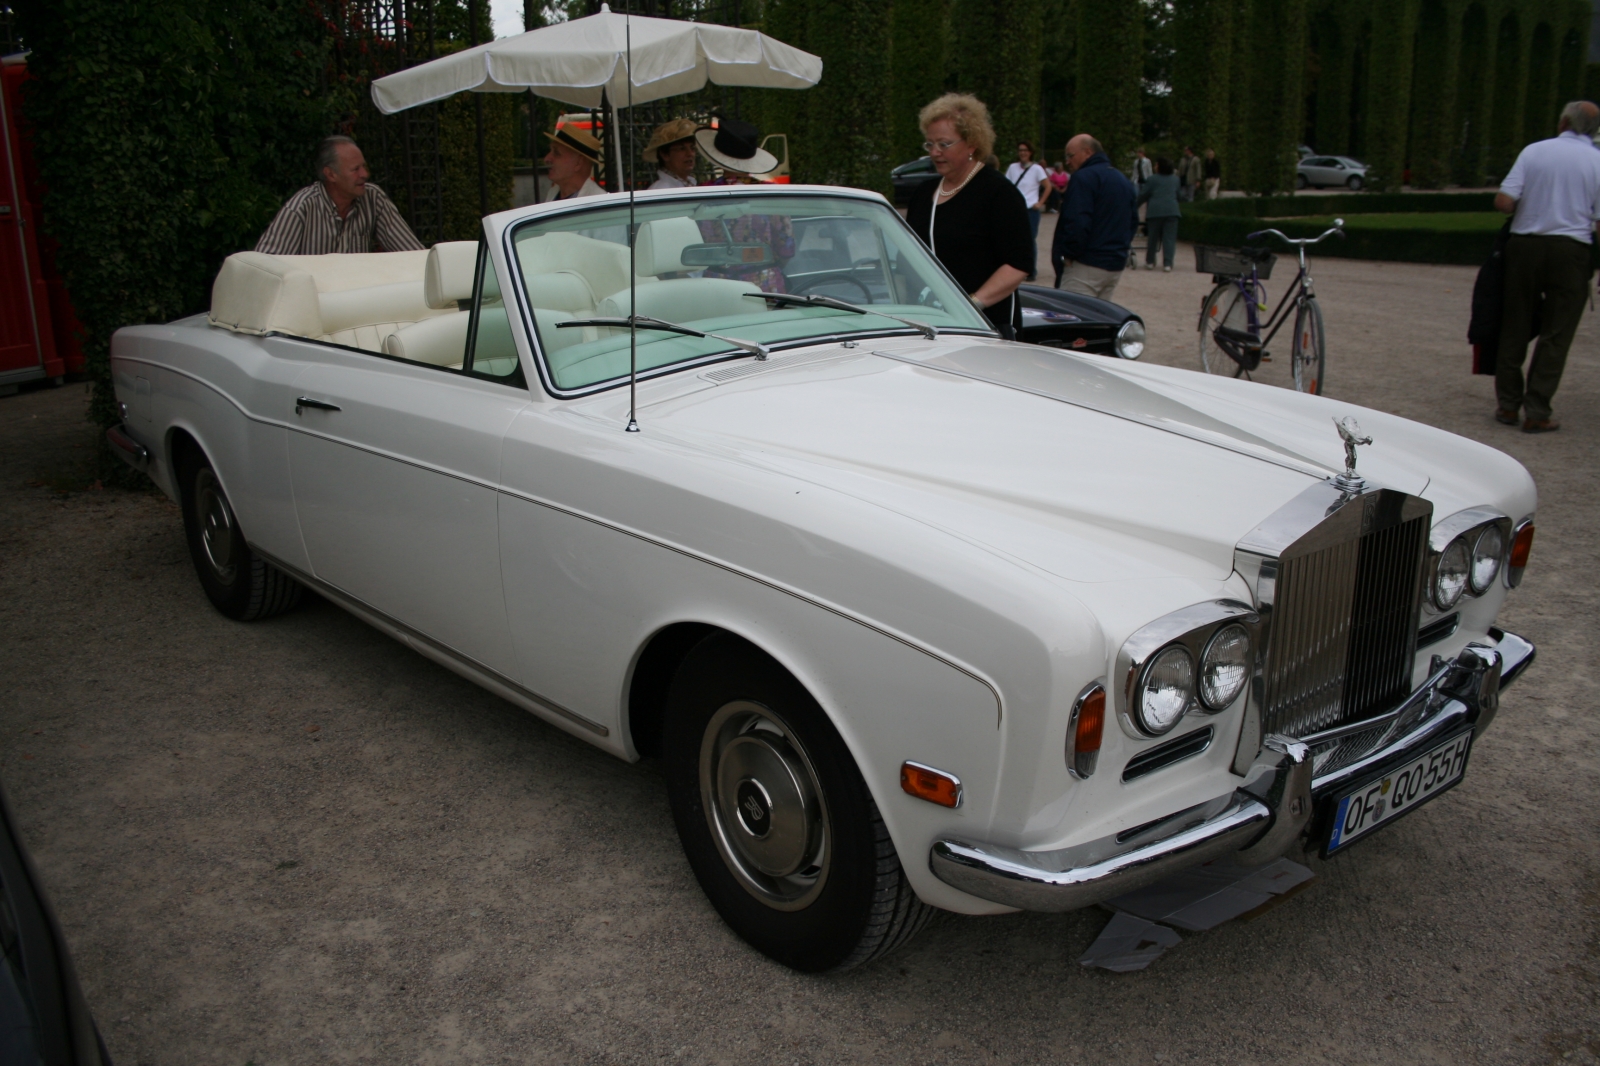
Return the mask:
[[[794,730],[757,703],[723,706],[706,725],[699,778],[712,839],[746,892],[778,911],[811,903],[827,880],[827,810]]]

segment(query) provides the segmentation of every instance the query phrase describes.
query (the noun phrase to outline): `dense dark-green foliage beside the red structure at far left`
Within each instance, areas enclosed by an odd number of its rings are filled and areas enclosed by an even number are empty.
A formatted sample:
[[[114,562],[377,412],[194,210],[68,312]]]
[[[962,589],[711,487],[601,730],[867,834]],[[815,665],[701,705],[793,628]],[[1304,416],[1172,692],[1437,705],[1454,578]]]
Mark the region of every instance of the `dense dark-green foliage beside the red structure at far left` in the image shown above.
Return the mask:
[[[326,83],[330,40],[302,0],[27,0],[18,30],[45,226],[109,426],[112,331],[203,311],[352,98]]]

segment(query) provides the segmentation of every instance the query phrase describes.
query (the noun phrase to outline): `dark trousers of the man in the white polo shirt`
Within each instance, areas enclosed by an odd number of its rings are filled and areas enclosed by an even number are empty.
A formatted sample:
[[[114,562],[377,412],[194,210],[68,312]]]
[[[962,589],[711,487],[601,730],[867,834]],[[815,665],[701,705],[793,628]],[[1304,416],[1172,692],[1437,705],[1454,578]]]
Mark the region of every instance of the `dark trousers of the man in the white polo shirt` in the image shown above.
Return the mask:
[[[1578,320],[1589,296],[1589,245],[1571,237],[1525,237],[1506,242],[1506,311],[1496,354],[1494,392],[1507,411],[1523,411],[1530,419],[1550,416],[1550,399],[1562,384],[1566,349],[1573,346]],[[1522,362],[1539,336],[1523,383]]]

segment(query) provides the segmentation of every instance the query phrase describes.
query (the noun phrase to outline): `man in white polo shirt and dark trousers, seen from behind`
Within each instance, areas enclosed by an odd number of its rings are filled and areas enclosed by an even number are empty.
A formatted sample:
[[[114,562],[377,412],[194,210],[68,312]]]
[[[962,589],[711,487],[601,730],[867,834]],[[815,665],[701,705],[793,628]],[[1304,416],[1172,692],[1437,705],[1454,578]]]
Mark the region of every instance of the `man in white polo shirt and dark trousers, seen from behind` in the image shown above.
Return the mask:
[[[1555,136],[1525,147],[1494,197],[1494,206],[1512,216],[1494,418],[1507,426],[1522,421],[1528,434],[1562,427],[1550,418],[1550,399],[1562,384],[1566,349],[1589,296],[1590,254],[1600,221],[1597,130],[1600,107],[1573,101],[1562,109]],[[1522,362],[1534,317],[1539,338],[1523,383]]]

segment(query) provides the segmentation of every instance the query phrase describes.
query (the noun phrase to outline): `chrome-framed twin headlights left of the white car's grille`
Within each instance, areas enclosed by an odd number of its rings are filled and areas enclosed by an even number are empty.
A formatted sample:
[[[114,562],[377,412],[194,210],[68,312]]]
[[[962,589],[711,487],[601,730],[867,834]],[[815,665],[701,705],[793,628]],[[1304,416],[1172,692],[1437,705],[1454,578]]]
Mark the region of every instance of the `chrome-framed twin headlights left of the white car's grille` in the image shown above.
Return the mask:
[[[1254,669],[1254,608],[1195,603],[1128,637],[1117,653],[1118,714],[1138,736],[1162,736],[1192,709],[1227,711]]]

